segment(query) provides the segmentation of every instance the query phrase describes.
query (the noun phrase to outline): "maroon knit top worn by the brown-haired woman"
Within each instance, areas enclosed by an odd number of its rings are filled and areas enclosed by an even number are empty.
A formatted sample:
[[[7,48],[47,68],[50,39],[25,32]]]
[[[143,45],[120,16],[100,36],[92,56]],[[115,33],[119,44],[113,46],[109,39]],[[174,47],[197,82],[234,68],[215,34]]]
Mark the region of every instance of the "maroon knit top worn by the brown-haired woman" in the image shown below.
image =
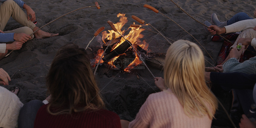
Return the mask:
[[[108,110],[51,115],[46,107],[38,110],[34,128],[121,128],[119,116]]]

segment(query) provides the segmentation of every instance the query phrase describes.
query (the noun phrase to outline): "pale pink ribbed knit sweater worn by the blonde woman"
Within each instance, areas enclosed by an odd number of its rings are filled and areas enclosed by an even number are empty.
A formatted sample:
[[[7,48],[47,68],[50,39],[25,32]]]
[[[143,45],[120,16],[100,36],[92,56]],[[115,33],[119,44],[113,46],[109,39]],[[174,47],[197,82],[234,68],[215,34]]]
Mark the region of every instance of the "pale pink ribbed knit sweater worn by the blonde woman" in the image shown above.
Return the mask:
[[[174,93],[161,91],[150,94],[129,128],[210,128],[207,115],[188,117]]]

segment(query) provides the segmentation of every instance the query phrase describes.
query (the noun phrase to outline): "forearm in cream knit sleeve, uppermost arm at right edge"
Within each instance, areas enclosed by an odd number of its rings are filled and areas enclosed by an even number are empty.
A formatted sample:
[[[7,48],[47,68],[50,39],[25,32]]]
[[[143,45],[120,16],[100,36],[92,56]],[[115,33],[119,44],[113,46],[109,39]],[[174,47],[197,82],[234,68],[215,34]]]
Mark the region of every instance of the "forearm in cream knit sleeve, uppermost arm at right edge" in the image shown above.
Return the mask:
[[[230,32],[241,32],[247,28],[254,28],[255,26],[256,26],[256,20],[249,19],[249,20],[238,21],[234,24],[225,26],[225,28],[226,28],[226,33],[230,33]]]

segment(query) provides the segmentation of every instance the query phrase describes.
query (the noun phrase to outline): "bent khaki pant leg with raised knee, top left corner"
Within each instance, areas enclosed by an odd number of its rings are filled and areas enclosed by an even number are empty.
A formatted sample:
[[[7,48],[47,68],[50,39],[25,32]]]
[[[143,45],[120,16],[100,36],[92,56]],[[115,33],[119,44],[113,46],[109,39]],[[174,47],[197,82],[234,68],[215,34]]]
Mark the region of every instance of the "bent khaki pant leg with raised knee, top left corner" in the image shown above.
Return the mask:
[[[35,24],[31,21],[28,21],[27,15],[13,0],[4,1],[4,3],[1,4],[0,11],[1,30],[3,30],[4,27],[6,26],[7,21],[10,19],[10,16],[12,16],[15,21],[17,21],[23,26],[27,26],[31,29],[34,29],[35,27]]]

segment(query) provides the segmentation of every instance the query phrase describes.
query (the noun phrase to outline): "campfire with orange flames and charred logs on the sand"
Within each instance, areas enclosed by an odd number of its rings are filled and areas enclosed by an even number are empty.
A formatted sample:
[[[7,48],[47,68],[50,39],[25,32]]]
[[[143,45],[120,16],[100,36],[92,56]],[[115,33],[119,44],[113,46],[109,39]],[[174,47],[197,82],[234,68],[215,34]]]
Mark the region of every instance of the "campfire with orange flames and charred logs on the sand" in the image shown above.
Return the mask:
[[[102,49],[99,49],[97,51],[95,63],[99,62],[99,58],[102,56],[103,51],[109,45],[100,63],[105,62],[105,68],[119,69],[126,72],[130,72],[130,69],[136,68],[136,66],[142,64],[142,61],[139,59],[139,56],[133,51],[133,49],[131,49],[130,44],[132,44],[132,46],[136,49],[136,51],[139,54],[147,53],[148,44],[146,43],[146,41],[140,40],[144,37],[144,35],[142,35],[141,32],[145,29],[129,27],[127,30],[121,30],[128,20],[127,17],[125,17],[125,14],[119,13],[117,17],[120,17],[120,20],[118,23],[114,24],[114,26],[117,29],[117,32],[123,35],[124,38],[127,39],[127,41],[121,36],[119,36],[119,34],[113,30],[108,30],[108,32],[102,32],[102,41],[104,44],[102,46]],[[118,38],[111,40],[113,33],[115,33],[115,36]],[[125,33],[128,34],[125,35]]]

